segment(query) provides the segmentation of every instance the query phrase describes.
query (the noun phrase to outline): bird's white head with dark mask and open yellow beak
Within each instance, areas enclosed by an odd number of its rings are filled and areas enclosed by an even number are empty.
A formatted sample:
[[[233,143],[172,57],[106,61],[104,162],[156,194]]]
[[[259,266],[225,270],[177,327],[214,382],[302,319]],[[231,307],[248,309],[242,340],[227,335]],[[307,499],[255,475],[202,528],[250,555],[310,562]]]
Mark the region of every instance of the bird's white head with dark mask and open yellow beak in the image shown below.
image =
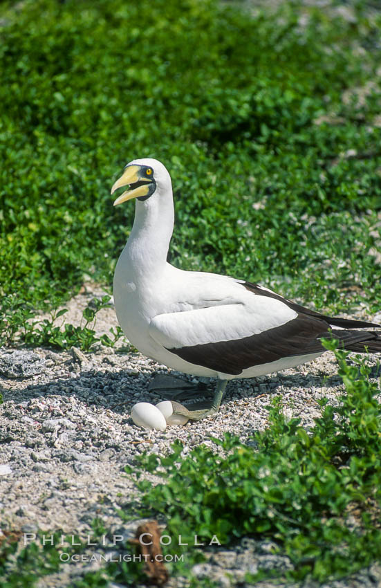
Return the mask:
[[[133,198],[145,201],[155,192],[171,187],[171,178],[165,166],[157,159],[134,159],[124,167],[122,176],[111,188],[111,194],[127,185],[129,189],[118,196],[114,206]]]

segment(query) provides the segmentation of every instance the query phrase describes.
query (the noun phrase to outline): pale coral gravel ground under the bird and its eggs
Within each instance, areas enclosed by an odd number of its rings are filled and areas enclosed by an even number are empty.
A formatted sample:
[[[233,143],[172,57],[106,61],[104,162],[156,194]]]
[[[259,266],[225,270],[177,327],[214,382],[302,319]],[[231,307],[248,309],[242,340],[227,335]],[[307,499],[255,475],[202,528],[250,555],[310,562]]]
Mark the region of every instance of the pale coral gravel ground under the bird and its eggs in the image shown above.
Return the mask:
[[[89,298],[101,295],[98,286],[88,284],[84,293],[68,304],[66,320],[75,324]],[[369,316],[359,311],[357,318]],[[380,321],[380,316],[373,320]],[[115,312],[109,306],[98,315],[97,334],[113,324]],[[31,534],[59,530],[86,537],[91,533],[91,522],[97,519],[109,535],[132,537],[138,522],[122,522],[118,508],[139,500],[131,477],[123,475],[124,466],[136,454],[145,450],[165,454],[176,439],[183,441],[186,453],[200,443],[212,445],[210,437],[221,438],[225,432],[248,441],[255,430],[266,427],[270,398],[279,394],[286,414],[299,416],[308,430],[320,413],[317,399],[326,396],[335,403],[342,389],[335,358],[327,352],[297,369],[230,383],[214,419],[164,432],[137,428],[129,417],[131,406],[137,401],[159,401],[160,396],[149,392],[149,384],[156,374],[167,372],[139,353],[128,353],[123,342],[118,342],[116,349],[93,353],[75,348],[61,353],[1,349],[0,495],[4,528]],[[146,475],[155,482],[153,475]],[[112,551],[112,546],[108,547]],[[245,572],[254,573],[259,566],[291,567],[288,558],[271,553],[271,543],[266,541],[243,539],[234,549],[210,547],[204,553],[207,562],[197,564],[194,573],[200,581],[214,578],[221,586],[243,582]],[[59,574],[39,580],[39,586],[69,586],[97,565],[64,564]],[[187,585],[185,579],[169,582],[169,586],[181,585]],[[373,564],[329,585],[379,586],[381,567]]]

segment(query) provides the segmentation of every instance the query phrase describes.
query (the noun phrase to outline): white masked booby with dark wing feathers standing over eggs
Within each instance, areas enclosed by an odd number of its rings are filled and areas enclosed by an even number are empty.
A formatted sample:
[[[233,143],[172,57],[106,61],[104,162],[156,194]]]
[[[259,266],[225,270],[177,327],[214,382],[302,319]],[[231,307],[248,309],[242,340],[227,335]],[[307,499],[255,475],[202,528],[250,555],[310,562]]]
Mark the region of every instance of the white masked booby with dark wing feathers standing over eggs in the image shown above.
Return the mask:
[[[194,376],[218,378],[212,406],[174,412],[194,420],[218,412],[232,378],[253,378],[313,360],[322,337],[348,351],[381,351],[380,327],[328,317],[272,292],[225,275],[184,271],[167,263],[174,228],[171,177],[151,158],[128,163],[111,194],[114,205],[136,199],[131,234],[115,268],[113,293],[120,326],[145,356]]]

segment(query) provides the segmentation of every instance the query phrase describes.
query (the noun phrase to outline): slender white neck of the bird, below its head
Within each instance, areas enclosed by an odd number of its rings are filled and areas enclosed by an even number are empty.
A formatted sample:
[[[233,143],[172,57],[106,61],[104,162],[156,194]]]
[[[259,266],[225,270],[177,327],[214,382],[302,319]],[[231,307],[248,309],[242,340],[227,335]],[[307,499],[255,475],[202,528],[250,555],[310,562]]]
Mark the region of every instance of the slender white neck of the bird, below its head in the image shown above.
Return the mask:
[[[135,221],[127,241],[129,265],[136,277],[160,274],[167,263],[169,242],[174,230],[174,203],[172,199],[136,201]],[[156,198],[156,201],[153,200]]]

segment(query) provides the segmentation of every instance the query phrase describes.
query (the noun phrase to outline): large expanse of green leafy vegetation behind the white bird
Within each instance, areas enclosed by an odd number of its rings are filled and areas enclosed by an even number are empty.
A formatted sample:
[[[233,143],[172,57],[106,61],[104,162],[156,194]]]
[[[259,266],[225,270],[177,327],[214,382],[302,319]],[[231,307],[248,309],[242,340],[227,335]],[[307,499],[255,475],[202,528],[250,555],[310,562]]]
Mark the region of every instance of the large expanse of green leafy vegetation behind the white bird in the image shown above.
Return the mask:
[[[142,156],[173,178],[172,263],[326,309],[362,296],[379,308],[380,17],[353,10],[346,21],[288,3],[271,15],[211,0],[3,4],[5,342],[84,275],[111,284],[133,205],[114,209],[109,189]]]

